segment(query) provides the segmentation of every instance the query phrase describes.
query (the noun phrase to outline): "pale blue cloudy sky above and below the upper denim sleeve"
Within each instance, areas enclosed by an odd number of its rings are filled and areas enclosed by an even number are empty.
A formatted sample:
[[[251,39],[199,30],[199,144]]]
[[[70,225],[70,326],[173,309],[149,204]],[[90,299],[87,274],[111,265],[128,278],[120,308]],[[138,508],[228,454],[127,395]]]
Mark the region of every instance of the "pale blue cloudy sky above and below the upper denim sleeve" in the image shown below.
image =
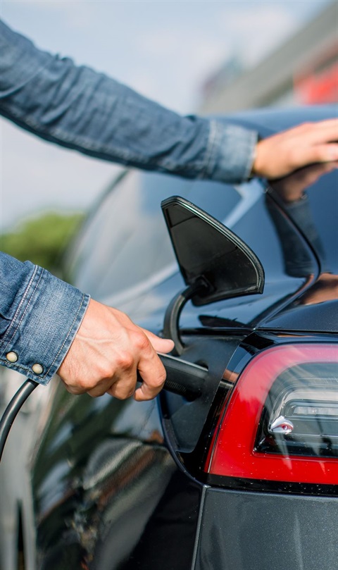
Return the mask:
[[[253,66],[330,0],[0,0],[37,47],[107,73],[179,113],[231,56]],[[88,209],[118,166],[0,118],[0,233],[42,211]]]

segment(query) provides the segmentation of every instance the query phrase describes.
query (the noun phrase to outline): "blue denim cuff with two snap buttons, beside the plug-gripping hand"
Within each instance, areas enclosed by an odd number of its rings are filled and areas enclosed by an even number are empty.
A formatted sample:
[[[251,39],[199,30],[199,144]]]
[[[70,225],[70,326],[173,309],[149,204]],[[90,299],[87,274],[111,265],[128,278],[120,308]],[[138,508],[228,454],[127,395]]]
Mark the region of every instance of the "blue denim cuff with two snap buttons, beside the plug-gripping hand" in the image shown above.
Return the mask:
[[[46,385],[58,371],[89,303],[89,295],[32,266],[23,295],[2,337],[0,364]]]

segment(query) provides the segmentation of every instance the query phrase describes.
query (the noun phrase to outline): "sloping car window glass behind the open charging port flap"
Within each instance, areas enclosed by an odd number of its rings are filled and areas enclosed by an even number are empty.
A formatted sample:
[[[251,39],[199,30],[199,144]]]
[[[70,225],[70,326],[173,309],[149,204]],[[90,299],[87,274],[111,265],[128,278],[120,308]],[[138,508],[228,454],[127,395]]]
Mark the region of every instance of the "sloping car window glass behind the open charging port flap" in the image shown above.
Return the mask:
[[[161,211],[161,201],[173,195],[191,200],[220,221],[241,200],[230,185],[128,171],[89,220],[71,256],[68,278],[104,300],[166,268],[173,273],[175,255]]]

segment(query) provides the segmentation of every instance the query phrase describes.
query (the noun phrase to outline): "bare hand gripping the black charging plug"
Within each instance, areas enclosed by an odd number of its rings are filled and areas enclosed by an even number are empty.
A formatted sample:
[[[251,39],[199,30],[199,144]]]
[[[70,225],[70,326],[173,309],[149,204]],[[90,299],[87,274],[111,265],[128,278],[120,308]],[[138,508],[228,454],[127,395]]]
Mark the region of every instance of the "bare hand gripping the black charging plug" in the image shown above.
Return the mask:
[[[165,380],[165,368],[156,352],[170,352],[172,340],[142,329],[112,307],[90,300],[82,324],[58,369],[71,394],[119,399],[154,398]],[[137,372],[143,383],[135,391]]]

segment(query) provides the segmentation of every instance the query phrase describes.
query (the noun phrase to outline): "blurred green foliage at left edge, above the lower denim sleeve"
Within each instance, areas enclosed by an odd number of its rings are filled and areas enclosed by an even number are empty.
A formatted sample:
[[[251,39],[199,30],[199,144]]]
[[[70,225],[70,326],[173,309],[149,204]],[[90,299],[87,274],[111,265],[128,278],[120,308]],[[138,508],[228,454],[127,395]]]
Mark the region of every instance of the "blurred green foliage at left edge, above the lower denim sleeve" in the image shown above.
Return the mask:
[[[0,249],[20,261],[29,260],[56,271],[65,247],[83,218],[83,214],[44,213],[0,235]]]

